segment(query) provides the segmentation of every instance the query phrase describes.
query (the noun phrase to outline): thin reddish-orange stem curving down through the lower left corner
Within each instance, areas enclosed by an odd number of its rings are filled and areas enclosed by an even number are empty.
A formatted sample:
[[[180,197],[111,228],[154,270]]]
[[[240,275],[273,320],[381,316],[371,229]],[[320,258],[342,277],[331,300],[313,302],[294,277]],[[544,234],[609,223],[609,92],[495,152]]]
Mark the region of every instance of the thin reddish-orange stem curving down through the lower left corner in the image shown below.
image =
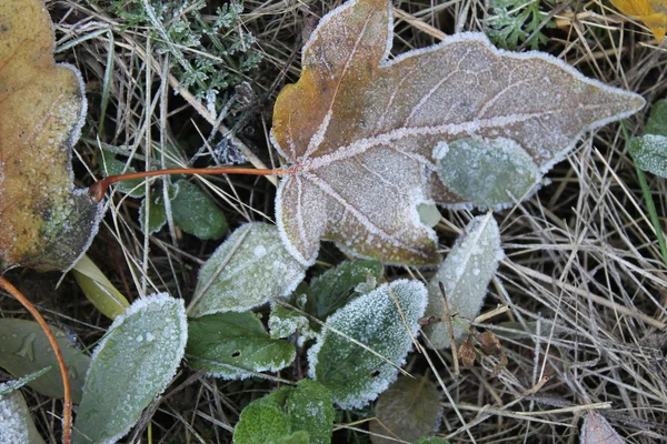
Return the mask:
[[[8,280],[0,276],[0,289],[3,289],[9,294],[14,296],[21,305],[26,307],[34,317],[39,326],[42,329],[47,339],[49,340],[49,344],[53,349],[53,353],[56,354],[56,360],[58,361],[58,366],[60,367],[60,376],[62,376],[62,389],[64,392],[64,407],[62,413],[62,443],[70,444],[71,442],[71,431],[72,431],[72,395],[69,383],[69,375],[67,374],[67,365],[64,363],[64,359],[62,357],[62,352],[60,351],[60,346],[56,341],[56,336],[51,333],[51,329],[47,324],[47,321],[42,317],[42,315],[37,311],[34,305],[23,294],[13,286]]]

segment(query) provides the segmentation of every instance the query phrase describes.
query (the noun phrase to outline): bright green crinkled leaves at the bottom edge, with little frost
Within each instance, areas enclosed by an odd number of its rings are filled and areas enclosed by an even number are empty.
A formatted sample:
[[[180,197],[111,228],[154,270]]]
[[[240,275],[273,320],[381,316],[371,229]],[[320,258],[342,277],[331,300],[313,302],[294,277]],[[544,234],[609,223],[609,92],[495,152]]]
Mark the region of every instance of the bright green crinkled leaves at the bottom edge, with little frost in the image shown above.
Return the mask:
[[[235,427],[237,444],[331,442],[335,411],[331,393],[321,384],[302,380],[253,401]]]

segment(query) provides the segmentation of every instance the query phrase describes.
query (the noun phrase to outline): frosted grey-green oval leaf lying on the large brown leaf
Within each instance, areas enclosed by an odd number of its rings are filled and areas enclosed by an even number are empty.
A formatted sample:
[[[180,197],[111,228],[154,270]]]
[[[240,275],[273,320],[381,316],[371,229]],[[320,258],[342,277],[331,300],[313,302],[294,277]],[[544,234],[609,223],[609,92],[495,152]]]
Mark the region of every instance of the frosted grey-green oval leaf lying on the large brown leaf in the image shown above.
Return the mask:
[[[536,190],[541,178],[528,152],[511,139],[440,142],[434,157],[445,185],[478,206],[518,201]]]

